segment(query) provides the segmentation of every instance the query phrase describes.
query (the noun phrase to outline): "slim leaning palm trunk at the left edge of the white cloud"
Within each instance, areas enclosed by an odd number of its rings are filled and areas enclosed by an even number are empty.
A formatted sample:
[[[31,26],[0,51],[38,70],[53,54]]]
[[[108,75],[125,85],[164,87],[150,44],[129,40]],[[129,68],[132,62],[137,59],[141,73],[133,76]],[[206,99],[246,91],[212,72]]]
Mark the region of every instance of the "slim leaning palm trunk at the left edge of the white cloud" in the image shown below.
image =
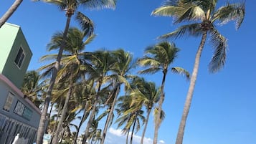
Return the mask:
[[[101,135],[100,144],[103,144],[104,141],[105,141],[105,136],[107,135],[108,125],[109,125],[110,120],[112,118],[112,114],[113,114],[113,111],[114,111],[114,108],[115,108],[115,102],[116,102],[116,99],[118,97],[119,90],[120,90],[120,84],[117,85],[117,89],[115,91],[115,97],[114,97],[113,103],[111,105],[110,112],[108,113],[107,121],[106,121],[105,126],[104,126],[103,135]]]

